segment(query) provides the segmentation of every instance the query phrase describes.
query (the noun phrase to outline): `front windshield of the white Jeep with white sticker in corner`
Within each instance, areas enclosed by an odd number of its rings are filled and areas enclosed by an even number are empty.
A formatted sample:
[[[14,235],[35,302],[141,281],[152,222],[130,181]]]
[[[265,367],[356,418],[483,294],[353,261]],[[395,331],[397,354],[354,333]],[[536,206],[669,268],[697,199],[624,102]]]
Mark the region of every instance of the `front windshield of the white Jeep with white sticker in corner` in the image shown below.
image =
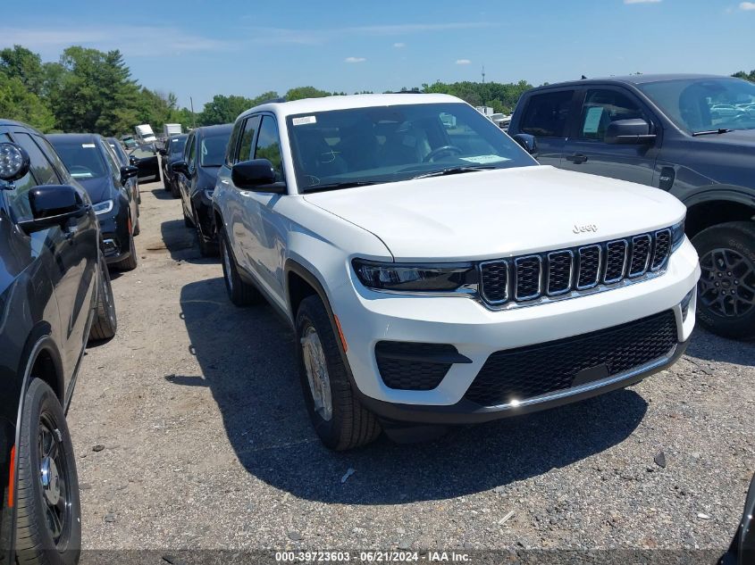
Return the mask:
[[[298,187],[394,182],[457,168],[536,165],[471,106],[406,104],[288,118]]]

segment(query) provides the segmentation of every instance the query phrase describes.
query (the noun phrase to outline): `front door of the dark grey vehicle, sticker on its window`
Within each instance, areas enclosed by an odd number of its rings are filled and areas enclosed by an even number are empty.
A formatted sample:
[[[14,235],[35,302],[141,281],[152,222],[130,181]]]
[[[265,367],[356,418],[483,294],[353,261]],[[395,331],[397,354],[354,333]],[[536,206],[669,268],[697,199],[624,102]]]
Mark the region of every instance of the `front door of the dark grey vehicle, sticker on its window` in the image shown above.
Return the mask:
[[[586,88],[579,120],[566,142],[561,168],[651,185],[660,137],[647,145],[605,142],[606,129],[612,121],[637,118],[650,124],[650,133],[659,133],[659,121],[630,90],[609,86]]]

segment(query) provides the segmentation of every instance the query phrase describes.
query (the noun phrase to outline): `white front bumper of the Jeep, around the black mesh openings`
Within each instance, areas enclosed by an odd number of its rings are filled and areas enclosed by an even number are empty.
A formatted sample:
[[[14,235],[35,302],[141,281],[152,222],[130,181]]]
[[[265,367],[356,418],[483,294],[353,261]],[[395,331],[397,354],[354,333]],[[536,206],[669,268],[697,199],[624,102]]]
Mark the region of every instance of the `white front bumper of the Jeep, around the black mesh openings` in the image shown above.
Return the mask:
[[[671,365],[692,334],[695,300],[683,320],[680,303],[700,277],[697,254],[689,241],[671,256],[657,278],[595,295],[492,311],[461,296],[388,295],[365,289],[351,274],[333,290],[331,304],[348,342],[346,356],[365,406],[389,420],[465,423],[493,420],[526,411],[575,402],[632,385]],[[482,406],[466,400],[467,390],[492,353],[583,336],[672,311],[676,345],[666,355],[609,378],[593,380],[516,405]],[[467,362],[455,362],[431,390],[386,386],[375,359],[375,345],[384,340],[454,345]]]

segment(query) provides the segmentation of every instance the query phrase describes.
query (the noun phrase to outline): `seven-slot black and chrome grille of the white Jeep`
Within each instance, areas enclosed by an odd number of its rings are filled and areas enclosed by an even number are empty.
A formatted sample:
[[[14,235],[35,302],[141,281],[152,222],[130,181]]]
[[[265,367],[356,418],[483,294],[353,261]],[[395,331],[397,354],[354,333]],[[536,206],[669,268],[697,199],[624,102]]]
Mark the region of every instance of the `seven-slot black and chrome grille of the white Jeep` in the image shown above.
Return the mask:
[[[598,285],[614,285],[666,266],[671,231],[614,239],[550,253],[482,262],[480,287],[491,304],[527,302]]]

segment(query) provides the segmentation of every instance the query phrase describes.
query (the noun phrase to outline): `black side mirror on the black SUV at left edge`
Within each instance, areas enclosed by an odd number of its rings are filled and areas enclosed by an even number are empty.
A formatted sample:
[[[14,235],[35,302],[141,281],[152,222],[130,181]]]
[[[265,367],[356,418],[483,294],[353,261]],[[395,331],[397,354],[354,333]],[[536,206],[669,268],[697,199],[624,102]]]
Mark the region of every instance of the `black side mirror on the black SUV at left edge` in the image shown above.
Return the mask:
[[[41,185],[32,188],[29,190],[29,208],[32,220],[18,222],[27,234],[63,226],[71,218],[80,218],[89,210],[79,191],[71,185]]]

